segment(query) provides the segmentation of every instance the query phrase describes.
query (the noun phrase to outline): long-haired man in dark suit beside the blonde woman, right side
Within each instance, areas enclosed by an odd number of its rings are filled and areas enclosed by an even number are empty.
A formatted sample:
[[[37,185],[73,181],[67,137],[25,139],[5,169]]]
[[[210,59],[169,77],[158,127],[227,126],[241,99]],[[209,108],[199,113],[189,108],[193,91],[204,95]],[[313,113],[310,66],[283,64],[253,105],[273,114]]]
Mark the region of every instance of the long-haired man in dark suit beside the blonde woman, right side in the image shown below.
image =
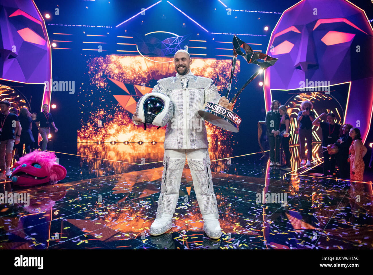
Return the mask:
[[[280,113],[279,113],[280,103],[278,100],[273,100],[271,103],[271,110],[266,114],[266,126],[267,126],[267,136],[269,139],[269,166],[281,166],[280,164],[280,139],[278,135],[280,134]],[[275,140],[277,139],[277,140]],[[275,156],[275,144],[276,144],[276,156]]]

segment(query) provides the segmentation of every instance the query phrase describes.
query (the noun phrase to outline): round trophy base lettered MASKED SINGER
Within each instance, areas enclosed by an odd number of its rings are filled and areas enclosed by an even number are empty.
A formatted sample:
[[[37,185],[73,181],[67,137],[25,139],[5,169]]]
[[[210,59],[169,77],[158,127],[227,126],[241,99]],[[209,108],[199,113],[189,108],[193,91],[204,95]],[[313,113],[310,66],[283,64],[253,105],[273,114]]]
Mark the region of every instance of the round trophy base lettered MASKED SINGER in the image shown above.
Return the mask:
[[[238,132],[242,121],[233,111],[213,102],[207,102],[204,109],[199,110],[198,114],[207,122],[234,133]]]

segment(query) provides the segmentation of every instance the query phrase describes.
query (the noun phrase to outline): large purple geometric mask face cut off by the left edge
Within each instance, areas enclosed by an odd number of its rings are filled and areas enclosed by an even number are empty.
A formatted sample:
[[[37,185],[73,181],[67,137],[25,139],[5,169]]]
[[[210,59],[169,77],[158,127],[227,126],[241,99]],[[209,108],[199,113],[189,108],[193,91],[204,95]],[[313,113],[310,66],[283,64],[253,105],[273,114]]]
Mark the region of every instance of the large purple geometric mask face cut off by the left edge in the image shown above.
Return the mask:
[[[26,83],[50,81],[51,49],[33,1],[0,0],[0,32],[1,78]]]

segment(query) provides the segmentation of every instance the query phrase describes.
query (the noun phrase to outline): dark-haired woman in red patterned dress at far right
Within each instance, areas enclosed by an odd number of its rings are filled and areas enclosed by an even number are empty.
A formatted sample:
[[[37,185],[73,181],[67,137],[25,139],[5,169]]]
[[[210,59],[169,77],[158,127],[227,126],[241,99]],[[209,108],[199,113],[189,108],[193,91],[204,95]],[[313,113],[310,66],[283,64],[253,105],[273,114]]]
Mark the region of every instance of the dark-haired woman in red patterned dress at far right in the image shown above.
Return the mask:
[[[350,129],[350,137],[352,138],[349,158],[350,178],[351,180],[362,181],[365,166],[363,157],[367,153],[367,147],[361,141],[361,134],[358,128]]]

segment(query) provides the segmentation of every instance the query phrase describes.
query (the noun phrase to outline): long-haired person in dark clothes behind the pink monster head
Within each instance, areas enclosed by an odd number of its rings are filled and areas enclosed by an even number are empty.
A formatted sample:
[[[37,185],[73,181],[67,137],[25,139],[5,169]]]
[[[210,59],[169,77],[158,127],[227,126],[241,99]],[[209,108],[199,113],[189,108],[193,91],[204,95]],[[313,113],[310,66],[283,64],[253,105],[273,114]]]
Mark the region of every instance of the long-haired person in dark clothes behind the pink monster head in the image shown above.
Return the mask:
[[[27,110],[26,107],[23,107],[21,111],[19,111],[18,119],[19,119],[19,123],[21,123],[22,131],[21,131],[20,141],[18,144],[17,160],[19,160],[19,158],[22,156],[23,144],[25,144],[25,152],[26,154],[28,154],[31,152],[30,145],[31,143],[34,142],[34,137],[32,137],[32,132],[31,132],[31,128],[32,128],[31,114]]]

